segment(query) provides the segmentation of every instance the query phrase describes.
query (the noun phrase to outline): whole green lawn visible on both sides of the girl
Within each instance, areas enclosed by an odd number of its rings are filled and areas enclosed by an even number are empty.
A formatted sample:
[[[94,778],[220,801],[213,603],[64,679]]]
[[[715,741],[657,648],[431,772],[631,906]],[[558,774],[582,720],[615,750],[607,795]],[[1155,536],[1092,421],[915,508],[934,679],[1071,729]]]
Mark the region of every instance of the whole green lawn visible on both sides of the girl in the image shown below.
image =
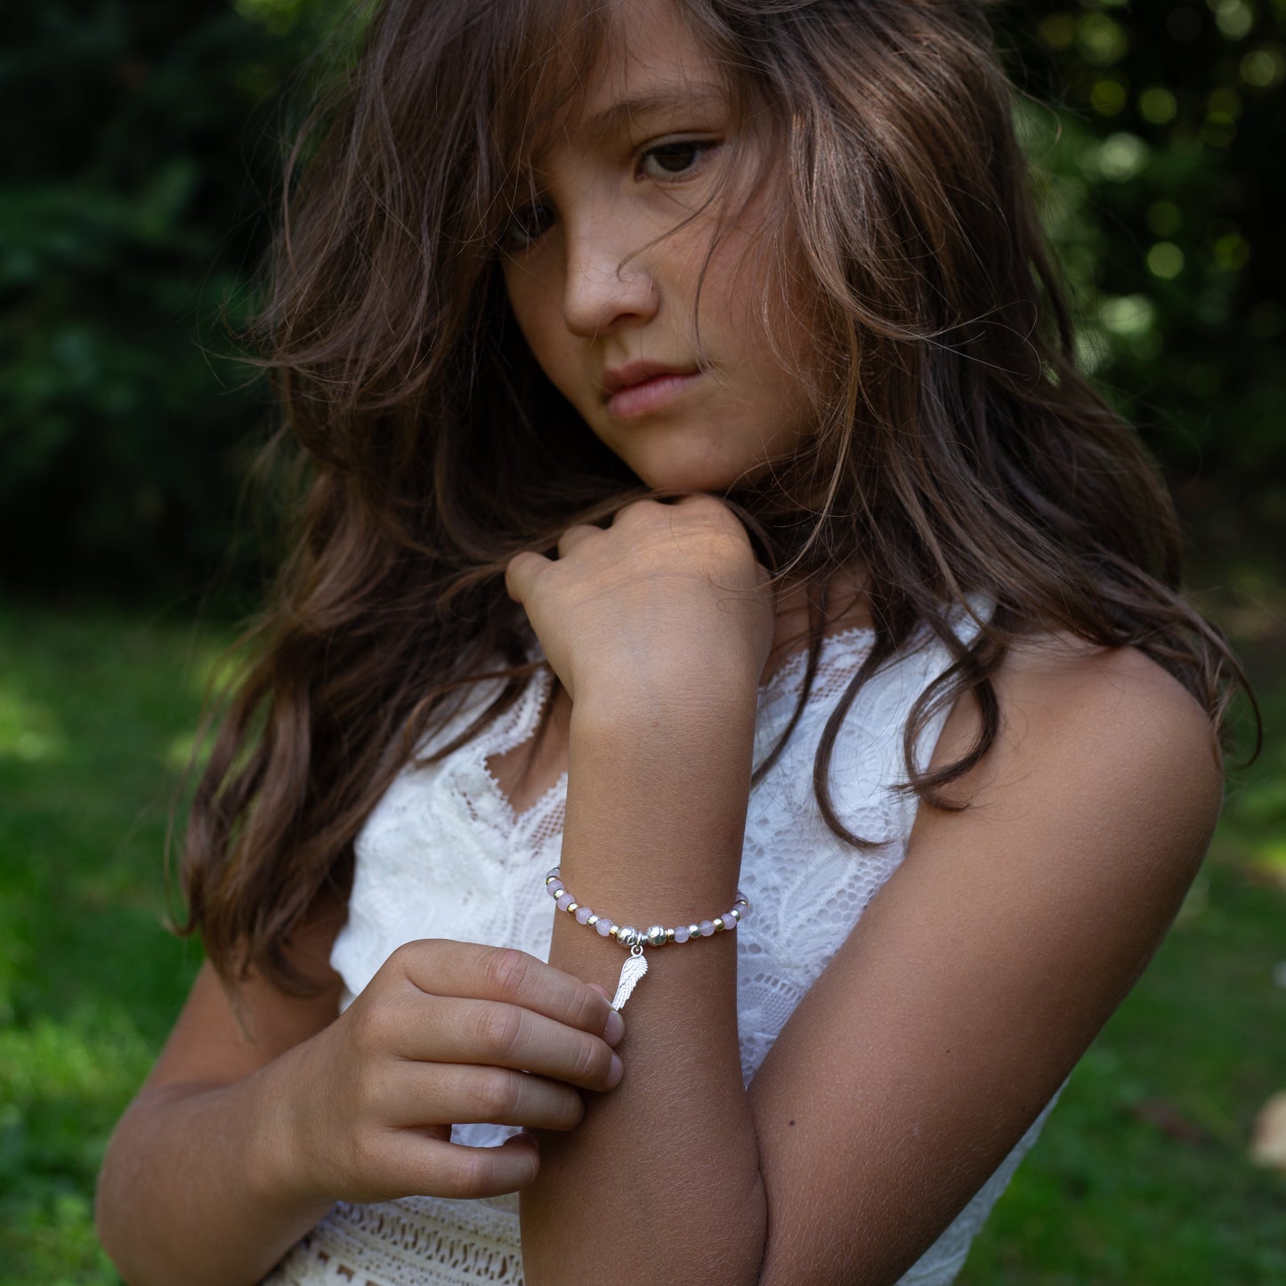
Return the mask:
[[[0,1283],[108,1286],[93,1187],[198,963],[161,854],[219,631],[0,611]],[[1269,728],[1286,676],[1262,676]],[[1231,792],[1157,959],[1073,1075],[966,1286],[1286,1281],[1286,1179],[1246,1160],[1286,1088],[1286,747]],[[194,1152],[193,1163],[199,1163]]]

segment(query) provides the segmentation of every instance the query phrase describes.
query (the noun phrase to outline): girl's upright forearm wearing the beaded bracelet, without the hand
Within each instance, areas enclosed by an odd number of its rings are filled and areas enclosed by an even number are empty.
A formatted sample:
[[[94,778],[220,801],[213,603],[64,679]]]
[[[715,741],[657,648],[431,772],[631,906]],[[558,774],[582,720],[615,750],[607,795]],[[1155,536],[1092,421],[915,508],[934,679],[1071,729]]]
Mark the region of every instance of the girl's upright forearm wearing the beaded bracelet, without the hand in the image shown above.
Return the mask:
[[[754,691],[646,720],[574,707],[562,869],[583,903],[639,928],[732,905]],[[630,707],[621,697],[608,709]],[[736,932],[647,957],[624,1013],[625,1079],[589,1096],[576,1130],[541,1139],[522,1204],[532,1286],[597,1283],[604,1264],[757,1277],[765,1201],[737,1046]],[[552,963],[611,989],[624,959],[611,939],[557,917]]]

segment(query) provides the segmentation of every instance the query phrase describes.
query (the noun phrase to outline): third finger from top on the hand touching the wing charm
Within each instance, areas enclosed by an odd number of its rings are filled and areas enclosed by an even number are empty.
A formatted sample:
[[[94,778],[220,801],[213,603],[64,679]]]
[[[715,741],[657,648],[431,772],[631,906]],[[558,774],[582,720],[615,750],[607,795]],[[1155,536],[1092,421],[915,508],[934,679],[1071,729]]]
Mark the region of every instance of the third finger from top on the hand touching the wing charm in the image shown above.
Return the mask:
[[[509,1067],[403,1062],[382,1091],[383,1119],[405,1127],[450,1121],[568,1130],[585,1116],[580,1091]]]

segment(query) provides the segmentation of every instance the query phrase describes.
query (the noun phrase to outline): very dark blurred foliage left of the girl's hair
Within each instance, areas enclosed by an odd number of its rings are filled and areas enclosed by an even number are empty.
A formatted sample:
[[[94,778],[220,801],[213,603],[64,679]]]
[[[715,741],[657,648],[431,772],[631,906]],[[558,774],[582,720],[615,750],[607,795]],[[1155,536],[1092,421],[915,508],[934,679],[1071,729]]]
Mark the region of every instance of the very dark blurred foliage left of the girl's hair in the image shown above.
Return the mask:
[[[325,5],[6,6],[0,576],[154,594],[221,561],[262,381],[229,356]],[[19,125],[21,122],[21,125]]]

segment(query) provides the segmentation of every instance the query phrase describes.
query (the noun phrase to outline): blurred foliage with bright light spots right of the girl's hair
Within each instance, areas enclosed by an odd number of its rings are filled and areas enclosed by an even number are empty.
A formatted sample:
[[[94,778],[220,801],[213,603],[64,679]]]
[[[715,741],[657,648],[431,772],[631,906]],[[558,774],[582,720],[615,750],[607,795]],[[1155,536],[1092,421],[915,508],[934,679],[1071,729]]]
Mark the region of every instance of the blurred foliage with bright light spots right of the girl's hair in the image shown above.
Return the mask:
[[[1211,552],[1244,557],[1286,523],[1286,0],[1022,4],[1001,27],[1084,361]]]

